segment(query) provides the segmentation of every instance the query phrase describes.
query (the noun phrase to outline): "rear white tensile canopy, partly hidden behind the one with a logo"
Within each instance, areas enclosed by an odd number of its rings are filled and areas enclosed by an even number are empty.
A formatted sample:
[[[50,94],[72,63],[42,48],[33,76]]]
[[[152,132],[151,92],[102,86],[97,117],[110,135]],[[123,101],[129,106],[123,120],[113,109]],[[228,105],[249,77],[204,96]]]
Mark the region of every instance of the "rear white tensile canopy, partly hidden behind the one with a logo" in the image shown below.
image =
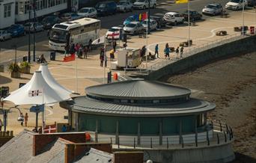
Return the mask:
[[[39,70],[42,72],[43,79],[46,81],[46,83],[49,84],[61,97],[70,97],[70,93],[73,91],[66,89],[61,84],[56,82],[56,80],[52,77],[52,74],[49,72],[47,64],[40,64]]]

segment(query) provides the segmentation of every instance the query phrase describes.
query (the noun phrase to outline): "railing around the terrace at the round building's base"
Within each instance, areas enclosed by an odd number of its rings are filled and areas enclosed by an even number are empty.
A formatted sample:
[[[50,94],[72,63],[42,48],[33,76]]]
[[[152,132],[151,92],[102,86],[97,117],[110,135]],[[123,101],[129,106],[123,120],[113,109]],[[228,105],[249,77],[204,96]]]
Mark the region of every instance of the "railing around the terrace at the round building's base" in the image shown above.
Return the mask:
[[[208,122],[210,129],[204,134],[201,132],[193,135],[170,135],[159,137],[138,136],[98,136],[95,141],[108,142],[113,148],[118,149],[179,149],[191,147],[206,147],[226,144],[233,141],[234,135],[230,126],[219,120]]]

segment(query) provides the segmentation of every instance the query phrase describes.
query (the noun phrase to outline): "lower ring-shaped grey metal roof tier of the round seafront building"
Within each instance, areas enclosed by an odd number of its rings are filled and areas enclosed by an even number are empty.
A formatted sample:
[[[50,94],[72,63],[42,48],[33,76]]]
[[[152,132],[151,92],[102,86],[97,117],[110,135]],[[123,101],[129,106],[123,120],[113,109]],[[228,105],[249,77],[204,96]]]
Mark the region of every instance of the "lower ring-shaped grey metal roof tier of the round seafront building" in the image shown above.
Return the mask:
[[[184,114],[196,114],[198,112],[210,111],[216,105],[201,99],[190,99],[187,102],[174,105],[129,105],[112,102],[103,102],[90,99],[87,96],[79,96],[71,102],[60,102],[63,108],[72,108],[87,114],[102,114],[109,116],[133,116],[133,117],[169,117]]]

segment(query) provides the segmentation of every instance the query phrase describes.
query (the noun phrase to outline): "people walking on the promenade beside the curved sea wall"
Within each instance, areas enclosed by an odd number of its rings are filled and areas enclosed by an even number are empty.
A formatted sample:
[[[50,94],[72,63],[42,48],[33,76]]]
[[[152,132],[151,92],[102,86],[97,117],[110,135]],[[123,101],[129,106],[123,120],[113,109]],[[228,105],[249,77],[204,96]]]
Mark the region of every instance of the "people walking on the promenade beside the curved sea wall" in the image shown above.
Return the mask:
[[[179,57],[180,55],[180,58],[183,58],[183,46],[177,46],[177,49],[174,49],[174,51],[176,52],[176,55],[177,55],[177,58]],[[165,53],[165,59],[170,59],[170,53],[171,53],[171,48],[169,47],[169,44],[166,43],[165,44],[165,49],[164,49],[164,53]],[[156,58],[159,58],[159,45],[156,44],[155,46],[155,55],[156,55]]]

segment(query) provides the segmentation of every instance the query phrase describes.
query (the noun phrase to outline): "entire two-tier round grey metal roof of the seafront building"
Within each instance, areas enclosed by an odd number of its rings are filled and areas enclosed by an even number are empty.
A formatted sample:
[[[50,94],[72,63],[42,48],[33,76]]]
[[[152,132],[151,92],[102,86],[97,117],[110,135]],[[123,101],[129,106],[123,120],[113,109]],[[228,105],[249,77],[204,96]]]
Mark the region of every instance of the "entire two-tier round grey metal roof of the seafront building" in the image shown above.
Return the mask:
[[[207,112],[216,105],[190,98],[191,91],[143,79],[85,88],[86,96],[60,102],[61,107],[86,114],[118,117],[170,117]]]

